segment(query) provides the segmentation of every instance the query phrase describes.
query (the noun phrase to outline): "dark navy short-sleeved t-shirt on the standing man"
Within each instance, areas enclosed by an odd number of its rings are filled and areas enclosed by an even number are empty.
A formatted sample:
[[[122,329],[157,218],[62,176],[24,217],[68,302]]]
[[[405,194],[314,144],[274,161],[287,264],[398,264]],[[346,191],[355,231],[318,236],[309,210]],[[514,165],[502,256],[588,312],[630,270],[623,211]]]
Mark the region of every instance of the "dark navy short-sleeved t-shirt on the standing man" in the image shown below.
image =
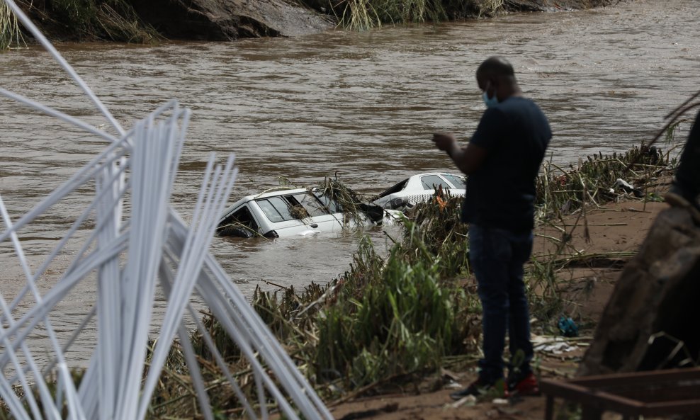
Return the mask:
[[[547,118],[530,99],[511,96],[487,109],[470,140],[487,155],[467,178],[462,221],[531,230],[535,181],[551,137]]]

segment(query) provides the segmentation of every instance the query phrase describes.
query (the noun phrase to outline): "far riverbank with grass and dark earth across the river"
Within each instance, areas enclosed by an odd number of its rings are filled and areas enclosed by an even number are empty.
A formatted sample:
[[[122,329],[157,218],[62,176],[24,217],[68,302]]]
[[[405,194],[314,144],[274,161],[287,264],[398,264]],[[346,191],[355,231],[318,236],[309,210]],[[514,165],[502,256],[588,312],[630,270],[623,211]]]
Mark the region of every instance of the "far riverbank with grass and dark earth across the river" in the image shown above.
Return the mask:
[[[271,18],[266,9],[230,0],[222,9],[210,0],[189,6],[160,0],[144,4],[137,0],[15,0],[16,4],[51,40],[115,41],[149,44],[168,37],[191,40],[232,40],[239,37],[283,34],[285,25],[304,25],[303,18]],[[271,0],[293,7],[298,16],[308,9],[319,13],[317,21],[332,27],[368,30],[385,24],[448,21],[495,16],[501,11],[542,10],[543,0]],[[570,0],[589,8],[606,0]],[[293,6],[289,6],[292,4]],[[292,12],[288,11],[287,14]],[[291,30],[291,33],[294,31]],[[0,49],[21,44],[18,35],[31,36],[16,24],[0,1]]]

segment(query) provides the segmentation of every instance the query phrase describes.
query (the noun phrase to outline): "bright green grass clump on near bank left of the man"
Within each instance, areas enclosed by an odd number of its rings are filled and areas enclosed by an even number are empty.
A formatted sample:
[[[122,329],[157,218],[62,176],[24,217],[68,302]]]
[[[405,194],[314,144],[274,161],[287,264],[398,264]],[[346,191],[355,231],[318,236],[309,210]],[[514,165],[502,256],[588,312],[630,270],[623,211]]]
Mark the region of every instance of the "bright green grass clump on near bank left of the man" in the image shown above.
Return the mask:
[[[317,373],[354,389],[431,372],[444,356],[473,351],[477,298],[442,271],[417,237],[386,259],[364,242],[333,305],[319,312]]]

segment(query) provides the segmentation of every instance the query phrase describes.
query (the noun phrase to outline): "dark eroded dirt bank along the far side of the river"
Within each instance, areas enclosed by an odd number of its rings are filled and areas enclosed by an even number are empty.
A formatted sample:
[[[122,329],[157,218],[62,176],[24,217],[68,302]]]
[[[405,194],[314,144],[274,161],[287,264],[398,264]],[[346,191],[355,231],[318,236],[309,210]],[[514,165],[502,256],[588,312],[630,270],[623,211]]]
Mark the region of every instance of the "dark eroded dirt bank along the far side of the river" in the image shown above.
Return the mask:
[[[485,0],[444,1],[441,18],[495,16],[500,11],[561,11],[631,0],[508,0],[493,11]],[[348,0],[16,0],[51,40],[153,42],[297,36],[336,27],[357,6]],[[370,1],[369,4],[372,2]],[[397,10],[412,10],[397,2]],[[371,6],[367,6],[371,7]],[[402,12],[403,13],[403,12]],[[414,12],[409,12],[414,13]],[[371,13],[369,13],[371,14]],[[376,16],[376,13],[375,13]],[[413,16],[424,20],[430,16]],[[402,16],[384,16],[400,21]],[[371,25],[370,25],[371,26]],[[28,39],[30,37],[27,35]]]

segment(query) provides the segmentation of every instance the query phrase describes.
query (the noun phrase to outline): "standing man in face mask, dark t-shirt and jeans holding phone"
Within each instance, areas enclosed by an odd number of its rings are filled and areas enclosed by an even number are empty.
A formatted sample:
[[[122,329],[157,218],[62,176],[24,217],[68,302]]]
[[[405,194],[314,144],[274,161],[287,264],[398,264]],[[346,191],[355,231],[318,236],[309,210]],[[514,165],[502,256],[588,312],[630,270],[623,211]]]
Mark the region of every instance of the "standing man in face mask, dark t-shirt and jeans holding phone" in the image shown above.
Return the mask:
[[[511,356],[507,392],[539,392],[530,368],[523,266],[532,251],[535,180],[552,134],[540,108],[522,96],[507,60],[486,59],[476,80],[487,110],[467,146],[460,147],[451,133],[433,135],[436,147],[468,175],[462,221],[469,223],[469,259],[483,310],[479,378],[453,392],[453,399],[481,395],[504,383],[506,331]]]

